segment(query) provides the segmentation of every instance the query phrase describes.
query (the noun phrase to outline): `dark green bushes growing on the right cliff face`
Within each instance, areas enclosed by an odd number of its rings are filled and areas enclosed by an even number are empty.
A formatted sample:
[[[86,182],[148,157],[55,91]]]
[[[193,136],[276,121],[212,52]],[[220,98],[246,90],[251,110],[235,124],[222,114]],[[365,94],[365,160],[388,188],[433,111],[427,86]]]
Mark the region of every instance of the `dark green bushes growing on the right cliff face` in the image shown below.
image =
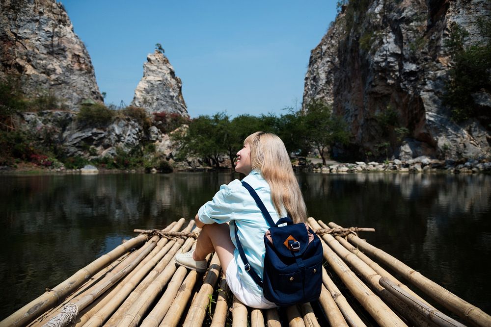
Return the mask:
[[[484,120],[489,126],[491,115],[482,112],[476,105],[472,94],[485,90],[491,92],[491,20],[480,18],[478,25],[485,42],[464,46],[469,33],[461,26],[454,24],[450,28],[449,39],[445,46],[452,57],[452,68],[446,82],[446,94],[443,103],[452,110],[452,119],[462,122],[472,117]]]

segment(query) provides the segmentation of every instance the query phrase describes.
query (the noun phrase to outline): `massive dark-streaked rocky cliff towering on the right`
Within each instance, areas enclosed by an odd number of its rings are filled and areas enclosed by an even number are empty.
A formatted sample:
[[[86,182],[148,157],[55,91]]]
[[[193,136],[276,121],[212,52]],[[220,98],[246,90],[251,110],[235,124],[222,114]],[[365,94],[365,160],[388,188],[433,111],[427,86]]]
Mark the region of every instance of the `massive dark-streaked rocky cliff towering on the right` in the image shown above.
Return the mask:
[[[476,45],[486,41],[477,22],[489,17],[488,0],[346,1],[311,51],[304,109],[331,104],[350,126],[357,157],[489,155],[491,90],[473,95],[487,117],[456,123],[443,102],[452,26],[468,33],[464,46]]]

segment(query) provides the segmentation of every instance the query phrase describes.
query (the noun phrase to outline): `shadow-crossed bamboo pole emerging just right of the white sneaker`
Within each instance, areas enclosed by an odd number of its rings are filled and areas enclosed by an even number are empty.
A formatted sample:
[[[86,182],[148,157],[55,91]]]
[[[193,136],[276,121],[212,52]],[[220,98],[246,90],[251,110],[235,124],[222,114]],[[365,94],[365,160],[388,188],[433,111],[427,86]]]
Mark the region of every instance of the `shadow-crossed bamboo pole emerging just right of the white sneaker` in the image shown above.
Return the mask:
[[[206,273],[203,285],[196,295],[196,298],[191,302],[191,307],[188,311],[188,315],[184,320],[183,327],[196,326],[198,322],[203,322],[206,316],[206,307],[210,303],[210,296],[213,295],[213,289],[217,284],[218,274],[220,273],[220,260],[218,254],[215,253],[210,262],[210,267]]]

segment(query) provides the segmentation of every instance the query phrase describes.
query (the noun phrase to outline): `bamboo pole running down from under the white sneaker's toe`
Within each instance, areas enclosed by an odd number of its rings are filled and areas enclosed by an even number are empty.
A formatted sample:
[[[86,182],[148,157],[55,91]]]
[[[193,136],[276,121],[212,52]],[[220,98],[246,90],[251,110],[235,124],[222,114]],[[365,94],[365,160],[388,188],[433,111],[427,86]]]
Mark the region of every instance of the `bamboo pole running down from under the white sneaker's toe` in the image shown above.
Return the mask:
[[[174,276],[167,285],[164,295],[141,322],[140,327],[158,327],[160,325],[162,319],[164,319],[164,316],[169,311],[170,305],[176,297],[187,274],[188,270],[185,267],[177,268]]]

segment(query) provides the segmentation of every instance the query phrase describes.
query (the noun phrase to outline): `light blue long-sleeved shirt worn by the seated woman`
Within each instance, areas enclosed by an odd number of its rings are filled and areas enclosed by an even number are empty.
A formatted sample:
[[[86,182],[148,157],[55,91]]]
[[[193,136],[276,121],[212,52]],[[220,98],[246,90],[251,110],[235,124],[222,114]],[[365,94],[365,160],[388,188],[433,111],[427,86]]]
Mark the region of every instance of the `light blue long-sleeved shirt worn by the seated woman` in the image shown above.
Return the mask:
[[[253,170],[244,179],[256,191],[271,218],[276,222],[280,217],[274,209],[271,200],[271,190],[268,182],[263,178],[261,172]],[[285,211],[283,209],[283,211]],[[286,212],[282,217],[286,216]],[[211,201],[206,202],[198,210],[198,218],[204,224],[224,224],[230,222],[230,238],[235,245],[234,258],[237,264],[237,272],[246,288],[257,296],[262,295],[262,289],[254,282],[244,269],[244,262],[240,257],[235,242],[235,225],[239,227],[239,239],[241,241],[247,260],[252,269],[263,278],[264,234],[269,226],[264,219],[261,210],[250,195],[249,191],[242,186],[240,180],[235,179],[228,185],[221,185],[220,190]]]

